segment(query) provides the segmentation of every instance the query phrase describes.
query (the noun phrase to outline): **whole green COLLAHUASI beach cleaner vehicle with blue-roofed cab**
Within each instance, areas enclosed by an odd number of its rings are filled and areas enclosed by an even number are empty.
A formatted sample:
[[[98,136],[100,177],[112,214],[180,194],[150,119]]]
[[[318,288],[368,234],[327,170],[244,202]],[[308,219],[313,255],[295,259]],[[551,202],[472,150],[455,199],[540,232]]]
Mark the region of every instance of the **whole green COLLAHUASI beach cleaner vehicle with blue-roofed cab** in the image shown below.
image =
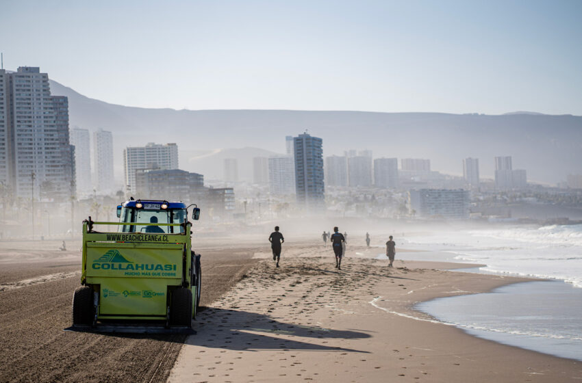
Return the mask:
[[[200,209],[192,204],[192,219]],[[119,222],[83,222],[81,286],[73,295],[73,326],[164,323],[191,328],[201,296],[200,255],[192,251],[182,202],[128,200]],[[116,232],[100,227],[116,226]],[[99,327],[97,326],[97,327]]]

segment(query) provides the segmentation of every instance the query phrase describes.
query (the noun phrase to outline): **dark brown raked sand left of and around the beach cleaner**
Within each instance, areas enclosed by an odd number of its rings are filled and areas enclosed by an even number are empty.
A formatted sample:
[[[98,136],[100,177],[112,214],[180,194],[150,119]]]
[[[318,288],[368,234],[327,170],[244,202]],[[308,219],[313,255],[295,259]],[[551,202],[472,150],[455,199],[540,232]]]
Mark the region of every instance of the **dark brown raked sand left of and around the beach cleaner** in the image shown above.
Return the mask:
[[[0,382],[165,382],[186,336],[66,332],[79,241],[0,241]],[[236,284],[257,246],[197,246],[207,304]]]

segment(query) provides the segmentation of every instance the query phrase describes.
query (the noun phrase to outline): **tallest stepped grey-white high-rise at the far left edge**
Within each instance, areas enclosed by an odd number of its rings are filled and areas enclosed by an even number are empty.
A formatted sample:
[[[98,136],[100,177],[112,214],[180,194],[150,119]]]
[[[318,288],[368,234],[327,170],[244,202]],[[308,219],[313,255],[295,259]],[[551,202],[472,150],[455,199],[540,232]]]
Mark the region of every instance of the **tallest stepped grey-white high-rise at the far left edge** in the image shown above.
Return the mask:
[[[75,188],[68,99],[51,96],[49,75],[0,70],[0,182],[15,196],[65,200]]]

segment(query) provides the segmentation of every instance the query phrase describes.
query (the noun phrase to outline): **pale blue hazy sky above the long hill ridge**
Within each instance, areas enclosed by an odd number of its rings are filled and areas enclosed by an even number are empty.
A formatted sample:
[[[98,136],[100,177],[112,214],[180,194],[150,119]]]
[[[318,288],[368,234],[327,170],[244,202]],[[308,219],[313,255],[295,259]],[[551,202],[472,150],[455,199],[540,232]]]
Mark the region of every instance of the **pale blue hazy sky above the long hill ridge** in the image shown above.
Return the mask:
[[[582,1],[0,1],[4,68],[174,109],[582,115]]]

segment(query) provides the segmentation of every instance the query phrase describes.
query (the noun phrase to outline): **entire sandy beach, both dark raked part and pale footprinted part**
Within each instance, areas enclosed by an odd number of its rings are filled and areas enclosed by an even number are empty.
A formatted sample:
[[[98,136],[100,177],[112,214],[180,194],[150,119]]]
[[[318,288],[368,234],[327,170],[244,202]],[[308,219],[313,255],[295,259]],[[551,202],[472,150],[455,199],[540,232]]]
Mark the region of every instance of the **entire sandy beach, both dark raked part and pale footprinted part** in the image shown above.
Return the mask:
[[[223,241],[224,243],[225,241]],[[0,243],[0,382],[579,382],[582,363],[501,345],[414,311],[416,302],[525,279],[446,271],[464,263],[375,258],[342,270],[320,241],[199,243],[203,311],[192,336],[71,326],[79,242]],[[408,252],[407,258],[415,256]],[[427,259],[426,252],[416,252]]]

